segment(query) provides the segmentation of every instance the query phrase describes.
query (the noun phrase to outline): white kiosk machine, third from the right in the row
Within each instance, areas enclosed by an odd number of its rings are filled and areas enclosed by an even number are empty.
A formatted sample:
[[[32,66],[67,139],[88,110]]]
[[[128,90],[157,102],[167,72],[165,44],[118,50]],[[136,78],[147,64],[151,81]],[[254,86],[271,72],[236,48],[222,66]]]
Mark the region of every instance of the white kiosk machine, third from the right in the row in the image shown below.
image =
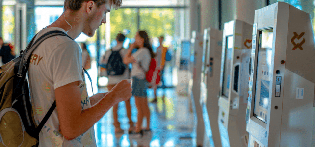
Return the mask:
[[[222,31],[204,30],[200,104],[203,111],[205,135],[203,147],[221,147],[218,127],[218,91],[222,52]]]

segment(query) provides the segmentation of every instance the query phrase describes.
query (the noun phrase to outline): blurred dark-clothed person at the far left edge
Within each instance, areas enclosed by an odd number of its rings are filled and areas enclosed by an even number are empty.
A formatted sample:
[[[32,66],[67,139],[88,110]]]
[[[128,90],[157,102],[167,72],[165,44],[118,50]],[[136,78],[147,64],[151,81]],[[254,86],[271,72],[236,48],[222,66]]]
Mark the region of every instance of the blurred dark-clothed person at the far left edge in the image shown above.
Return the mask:
[[[4,44],[2,37],[0,37],[0,47],[0,57],[2,58],[3,64],[8,63],[15,58],[12,54],[14,51],[10,48],[9,44]]]

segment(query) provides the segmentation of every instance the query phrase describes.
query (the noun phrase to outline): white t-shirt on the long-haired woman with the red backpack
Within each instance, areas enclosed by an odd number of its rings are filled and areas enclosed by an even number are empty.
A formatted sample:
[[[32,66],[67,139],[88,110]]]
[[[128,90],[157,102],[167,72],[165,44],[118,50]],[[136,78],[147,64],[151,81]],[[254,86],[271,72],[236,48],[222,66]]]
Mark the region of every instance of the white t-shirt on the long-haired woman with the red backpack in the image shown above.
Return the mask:
[[[132,54],[132,57],[137,63],[132,64],[131,76],[136,76],[138,79],[144,79],[145,73],[143,70],[148,71],[150,66],[151,55],[149,49],[140,48]],[[139,67],[139,64],[141,64],[142,68]]]

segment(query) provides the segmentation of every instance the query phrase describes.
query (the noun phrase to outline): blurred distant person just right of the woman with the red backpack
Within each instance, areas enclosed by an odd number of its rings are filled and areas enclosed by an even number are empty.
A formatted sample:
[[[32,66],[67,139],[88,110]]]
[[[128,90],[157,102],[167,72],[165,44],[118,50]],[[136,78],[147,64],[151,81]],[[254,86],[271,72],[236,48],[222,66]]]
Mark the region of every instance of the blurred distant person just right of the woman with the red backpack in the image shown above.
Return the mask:
[[[159,46],[157,47],[157,52],[155,59],[157,61],[157,68],[155,71],[155,80],[152,82],[153,89],[154,89],[154,99],[151,101],[153,103],[157,102],[157,85],[159,84],[159,81],[157,81],[160,78],[160,81],[162,82],[162,88],[164,89],[164,65],[165,65],[165,56],[167,52],[167,47],[163,46],[164,36],[160,36],[159,38]],[[163,94],[162,99],[165,97],[165,94]]]

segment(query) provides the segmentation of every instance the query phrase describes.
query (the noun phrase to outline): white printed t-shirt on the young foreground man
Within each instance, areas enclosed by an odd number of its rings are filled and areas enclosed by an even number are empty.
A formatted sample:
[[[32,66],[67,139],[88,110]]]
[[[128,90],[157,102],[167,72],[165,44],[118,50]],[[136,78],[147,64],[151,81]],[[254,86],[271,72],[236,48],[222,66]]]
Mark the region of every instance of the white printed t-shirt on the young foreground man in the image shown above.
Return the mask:
[[[61,28],[45,28],[36,39],[48,31]],[[81,81],[82,109],[91,107],[82,69],[82,52],[79,45],[66,36],[53,36],[44,40],[34,50],[29,64],[29,86],[33,113],[37,124],[47,114],[55,100],[56,88]],[[39,133],[39,147],[96,147],[94,128],[68,141],[60,133],[57,110],[53,111]]]

